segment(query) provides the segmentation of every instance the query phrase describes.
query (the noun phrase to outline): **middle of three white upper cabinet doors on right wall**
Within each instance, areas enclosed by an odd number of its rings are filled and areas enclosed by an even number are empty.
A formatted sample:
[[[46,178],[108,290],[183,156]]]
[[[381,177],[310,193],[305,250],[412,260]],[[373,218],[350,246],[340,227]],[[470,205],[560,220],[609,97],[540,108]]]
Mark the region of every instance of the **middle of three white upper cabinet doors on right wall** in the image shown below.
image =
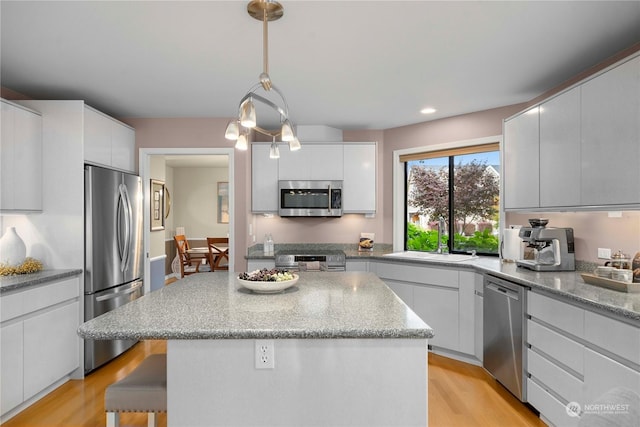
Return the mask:
[[[580,205],[580,88],[540,106],[540,207]]]

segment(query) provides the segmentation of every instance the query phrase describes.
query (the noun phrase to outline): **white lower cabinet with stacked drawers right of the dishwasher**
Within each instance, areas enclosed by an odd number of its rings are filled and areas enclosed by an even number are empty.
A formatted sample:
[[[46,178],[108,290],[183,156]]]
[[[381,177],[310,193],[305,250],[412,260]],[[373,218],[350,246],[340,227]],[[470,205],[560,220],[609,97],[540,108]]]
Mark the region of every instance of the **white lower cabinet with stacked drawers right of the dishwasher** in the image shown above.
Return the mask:
[[[533,291],[527,314],[527,400],[546,421],[578,425],[567,406],[588,410],[616,387],[640,394],[640,327]]]

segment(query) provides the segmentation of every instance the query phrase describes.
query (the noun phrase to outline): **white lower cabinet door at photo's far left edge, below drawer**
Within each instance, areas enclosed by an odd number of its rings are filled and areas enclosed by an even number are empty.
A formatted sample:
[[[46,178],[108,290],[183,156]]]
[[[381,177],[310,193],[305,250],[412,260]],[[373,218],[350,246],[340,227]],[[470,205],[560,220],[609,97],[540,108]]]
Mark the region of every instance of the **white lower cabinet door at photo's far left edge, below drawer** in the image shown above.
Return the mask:
[[[22,403],[22,348],[22,322],[0,328],[0,414]]]

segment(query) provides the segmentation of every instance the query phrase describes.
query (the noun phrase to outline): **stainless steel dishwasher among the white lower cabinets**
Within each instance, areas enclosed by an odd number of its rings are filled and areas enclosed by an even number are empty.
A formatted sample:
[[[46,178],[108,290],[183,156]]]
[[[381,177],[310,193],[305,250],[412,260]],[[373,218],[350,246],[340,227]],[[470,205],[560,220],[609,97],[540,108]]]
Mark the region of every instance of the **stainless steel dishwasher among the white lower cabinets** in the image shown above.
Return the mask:
[[[523,382],[526,289],[497,277],[484,277],[483,365],[523,402],[526,402]]]

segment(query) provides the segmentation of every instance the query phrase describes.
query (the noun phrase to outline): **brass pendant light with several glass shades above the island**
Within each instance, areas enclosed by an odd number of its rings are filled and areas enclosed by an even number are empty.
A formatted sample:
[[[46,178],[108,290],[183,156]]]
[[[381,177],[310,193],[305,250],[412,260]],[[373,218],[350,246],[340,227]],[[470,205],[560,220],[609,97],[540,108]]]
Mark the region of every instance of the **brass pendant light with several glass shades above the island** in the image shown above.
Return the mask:
[[[269,30],[268,22],[282,18],[284,7],[277,1],[271,0],[252,0],[247,5],[249,15],[259,21],[262,21],[262,57],[263,71],[260,74],[259,82],[249,89],[246,95],[242,97],[238,106],[238,119],[232,120],[227,125],[225,138],[236,141],[238,150],[246,150],[248,148],[249,132],[253,129],[263,135],[272,138],[271,150],[269,157],[277,159],[280,157],[276,137],[280,137],[283,142],[289,143],[289,150],[295,151],[300,149],[300,141],[296,137],[293,125],[289,119],[289,106],[287,100],[280,90],[271,82],[269,77]],[[264,92],[275,92],[281,99],[282,105],[265,98],[256,93],[262,90]],[[278,113],[280,127],[277,129],[265,129],[258,125],[256,117],[255,102],[260,102]]]

